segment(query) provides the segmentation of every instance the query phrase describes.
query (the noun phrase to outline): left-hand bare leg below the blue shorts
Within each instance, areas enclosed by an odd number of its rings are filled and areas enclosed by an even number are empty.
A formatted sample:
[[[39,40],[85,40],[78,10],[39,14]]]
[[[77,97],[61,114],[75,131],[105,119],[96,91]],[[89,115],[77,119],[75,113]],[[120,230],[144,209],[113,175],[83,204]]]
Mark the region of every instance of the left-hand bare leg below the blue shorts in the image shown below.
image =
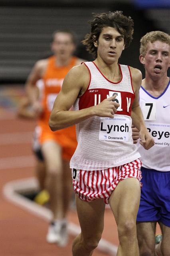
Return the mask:
[[[140,256],[154,256],[156,222],[137,222]]]

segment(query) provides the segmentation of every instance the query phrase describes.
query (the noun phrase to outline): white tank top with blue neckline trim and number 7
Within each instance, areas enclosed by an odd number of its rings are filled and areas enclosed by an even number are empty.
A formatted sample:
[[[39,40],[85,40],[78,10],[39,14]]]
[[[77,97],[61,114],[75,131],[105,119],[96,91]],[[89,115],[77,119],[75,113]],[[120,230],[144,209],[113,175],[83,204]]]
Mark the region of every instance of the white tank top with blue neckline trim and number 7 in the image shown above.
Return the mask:
[[[170,171],[170,82],[157,98],[142,86],[139,96],[146,127],[155,141],[149,150],[144,150],[138,144],[142,166],[162,172]]]

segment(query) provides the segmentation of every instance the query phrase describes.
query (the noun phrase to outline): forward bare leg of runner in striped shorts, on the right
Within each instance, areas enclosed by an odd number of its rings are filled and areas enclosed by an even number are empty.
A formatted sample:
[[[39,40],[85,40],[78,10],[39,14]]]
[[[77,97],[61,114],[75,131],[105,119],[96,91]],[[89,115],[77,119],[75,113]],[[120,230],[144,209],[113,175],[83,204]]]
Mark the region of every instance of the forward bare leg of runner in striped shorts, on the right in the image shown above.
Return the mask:
[[[120,181],[109,198],[120,242],[117,256],[139,256],[136,236],[136,215],[139,202],[140,182],[136,178]]]

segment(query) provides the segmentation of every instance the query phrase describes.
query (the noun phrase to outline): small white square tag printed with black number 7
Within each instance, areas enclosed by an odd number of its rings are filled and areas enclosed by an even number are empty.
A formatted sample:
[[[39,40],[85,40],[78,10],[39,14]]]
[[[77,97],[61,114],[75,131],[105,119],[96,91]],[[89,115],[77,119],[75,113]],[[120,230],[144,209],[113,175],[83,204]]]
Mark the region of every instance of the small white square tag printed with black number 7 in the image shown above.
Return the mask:
[[[143,102],[142,113],[144,120],[156,120],[156,102]]]

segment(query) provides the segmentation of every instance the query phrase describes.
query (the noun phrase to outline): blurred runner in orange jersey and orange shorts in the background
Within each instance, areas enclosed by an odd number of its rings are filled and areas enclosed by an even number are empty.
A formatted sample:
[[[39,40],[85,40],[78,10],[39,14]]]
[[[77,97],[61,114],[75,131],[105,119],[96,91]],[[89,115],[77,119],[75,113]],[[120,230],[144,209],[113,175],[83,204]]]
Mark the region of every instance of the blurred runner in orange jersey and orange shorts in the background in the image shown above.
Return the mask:
[[[73,56],[75,34],[70,30],[57,30],[53,33],[51,49],[54,55],[39,60],[28,80],[26,89],[32,107],[37,113],[41,128],[40,143],[47,166],[45,187],[50,195],[52,220],[47,232],[47,242],[59,246],[67,244],[67,210],[71,196],[71,173],[69,160],[77,146],[75,126],[57,132],[51,132],[48,120],[53,102],[61,90],[67,72],[83,60]],[[42,104],[37,100],[35,84],[43,79],[44,92]]]

